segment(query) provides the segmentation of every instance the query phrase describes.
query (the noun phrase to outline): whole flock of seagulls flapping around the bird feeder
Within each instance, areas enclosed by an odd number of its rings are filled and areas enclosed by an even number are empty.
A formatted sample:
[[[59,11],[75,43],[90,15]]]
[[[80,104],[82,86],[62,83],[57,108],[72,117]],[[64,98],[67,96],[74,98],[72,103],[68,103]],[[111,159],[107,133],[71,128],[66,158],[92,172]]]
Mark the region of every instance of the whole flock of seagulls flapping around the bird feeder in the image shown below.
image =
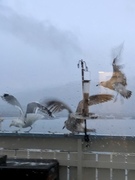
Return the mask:
[[[88,106],[105,103],[114,99],[117,100],[118,94],[125,99],[128,99],[132,95],[132,91],[126,89],[127,79],[125,74],[122,72],[122,66],[118,64],[118,58],[114,58],[112,62],[113,72],[112,77],[107,81],[102,81],[97,86],[103,86],[105,88],[115,91],[117,94],[114,97],[112,94],[96,94],[91,95],[88,99]],[[24,110],[19,103],[19,101],[10,94],[4,94],[1,96],[2,100],[15,106],[20,111],[20,116],[13,119],[10,127],[18,127],[19,130],[22,128],[30,127],[29,131],[32,129],[32,125],[35,121],[39,119],[45,119],[48,117],[55,117],[55,114],[67,110],[68,118],[64,122],[63,128],[66,128],[71,133],[84,133],[84,119],[79,118],[77,115],[81,115],[83,111],[83,100],[78,103],[76,111],[73,112],[72,109],[63,101],[59,99],[44,99],[42,102],[30,102],[27,104],[26,110]],[[94,113],[90,113],[91,117]],[[3,121],[3,118],[1,119]],[[18,130],[18,131],[19,131]],[[28,131],[28,132],[29,132]],[[86,129],[87,132],[96,132],[95,129]]]

